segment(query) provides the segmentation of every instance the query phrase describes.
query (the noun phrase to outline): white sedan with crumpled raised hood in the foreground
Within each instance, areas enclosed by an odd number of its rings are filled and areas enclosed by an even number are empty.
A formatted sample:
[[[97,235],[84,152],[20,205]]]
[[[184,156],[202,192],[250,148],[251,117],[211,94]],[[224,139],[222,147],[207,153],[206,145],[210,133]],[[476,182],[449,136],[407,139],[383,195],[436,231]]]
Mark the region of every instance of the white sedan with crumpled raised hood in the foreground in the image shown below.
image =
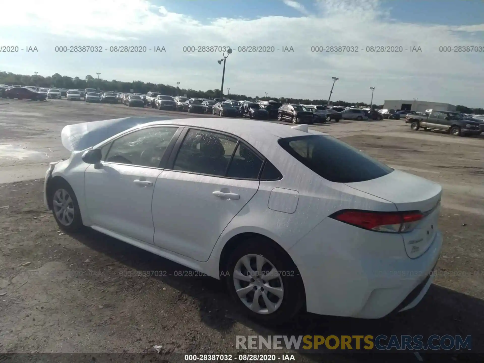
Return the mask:
[[[156,120],[64,127],[72,155],[50,164],[44,188],[62,230],[91,227],[225,279],[266,323],[302,308],[381,318],[427,292],[439,184],[307,125]]]

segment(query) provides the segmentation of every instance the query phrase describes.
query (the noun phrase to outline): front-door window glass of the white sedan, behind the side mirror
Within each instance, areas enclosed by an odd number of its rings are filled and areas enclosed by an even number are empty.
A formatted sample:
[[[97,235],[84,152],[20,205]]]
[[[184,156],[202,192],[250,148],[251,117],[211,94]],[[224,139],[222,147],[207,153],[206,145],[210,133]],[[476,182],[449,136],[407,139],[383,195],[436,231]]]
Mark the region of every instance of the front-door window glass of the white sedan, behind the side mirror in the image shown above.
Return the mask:
[[[177,130],[177,127],[150,127],[121,136],[113,141],[103,160],[108,163],[159,167]]]

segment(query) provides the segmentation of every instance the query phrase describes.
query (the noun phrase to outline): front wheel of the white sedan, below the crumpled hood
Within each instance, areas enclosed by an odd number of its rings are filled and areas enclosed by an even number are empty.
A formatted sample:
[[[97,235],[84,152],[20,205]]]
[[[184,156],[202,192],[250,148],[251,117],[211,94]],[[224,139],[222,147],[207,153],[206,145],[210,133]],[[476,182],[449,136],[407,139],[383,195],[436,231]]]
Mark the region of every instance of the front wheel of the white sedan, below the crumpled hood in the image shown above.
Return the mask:
[[[53,181],[51,201],[52,213],[59,228],[66,232],[76,232],[82,226],[81,212],[76,195],[67,181]]]

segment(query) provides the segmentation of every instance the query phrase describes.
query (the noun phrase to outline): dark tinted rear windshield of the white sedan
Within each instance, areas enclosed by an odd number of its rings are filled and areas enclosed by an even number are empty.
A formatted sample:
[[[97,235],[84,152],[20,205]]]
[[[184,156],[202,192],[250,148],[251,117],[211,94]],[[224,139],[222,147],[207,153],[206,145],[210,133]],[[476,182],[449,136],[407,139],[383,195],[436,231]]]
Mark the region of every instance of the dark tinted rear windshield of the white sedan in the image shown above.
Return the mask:
[[[319,176],[336,183],[368,181],[393,169],[329,135],[279,139],[279,145]]]

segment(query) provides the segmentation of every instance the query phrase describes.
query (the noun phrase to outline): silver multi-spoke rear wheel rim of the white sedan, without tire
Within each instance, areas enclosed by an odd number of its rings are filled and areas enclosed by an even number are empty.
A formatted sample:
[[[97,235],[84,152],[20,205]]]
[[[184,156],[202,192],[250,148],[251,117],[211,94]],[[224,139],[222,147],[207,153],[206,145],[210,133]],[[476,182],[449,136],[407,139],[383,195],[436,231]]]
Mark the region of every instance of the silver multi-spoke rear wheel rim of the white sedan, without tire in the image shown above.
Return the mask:
[[[233,281],[239,299],[253,312],[272,314],[281,306],[282,279],[267,258],[255,254],[240,258],[234,268]]]

